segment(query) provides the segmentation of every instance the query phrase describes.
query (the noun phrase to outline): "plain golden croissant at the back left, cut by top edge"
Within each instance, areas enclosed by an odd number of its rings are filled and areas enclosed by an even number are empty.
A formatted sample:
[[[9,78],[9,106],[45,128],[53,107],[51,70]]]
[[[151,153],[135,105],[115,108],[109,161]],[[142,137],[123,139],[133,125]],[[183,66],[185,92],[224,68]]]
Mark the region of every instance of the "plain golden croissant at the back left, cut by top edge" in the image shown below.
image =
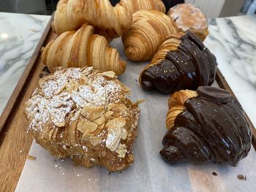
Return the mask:
[[[132,23],[132,14],[109,0],[69,0],[59,4],[52,24],[56,34],[77,30],[84,23],[94,26],[108,38],[121,36]]]

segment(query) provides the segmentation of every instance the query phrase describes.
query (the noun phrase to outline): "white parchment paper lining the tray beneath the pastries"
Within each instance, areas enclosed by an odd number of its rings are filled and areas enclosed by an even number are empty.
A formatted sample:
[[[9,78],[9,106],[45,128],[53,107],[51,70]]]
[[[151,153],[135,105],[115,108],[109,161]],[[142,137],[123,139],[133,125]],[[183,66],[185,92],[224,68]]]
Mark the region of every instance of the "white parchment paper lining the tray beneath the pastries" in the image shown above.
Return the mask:
[[[237,167],[214,164],[171,166],[162,160],[159,150],[167,131],[165,116],[169,96],[143,91],[138,76],[147,63],[128,61],[120,39],[111,45],[128,63],[127,72],[120,80],[130,88],[131,99],[146,100],[140,104],[135,164],[121,173],[109,174],[107,169],[99,166],[85,169],[74,166],[69,159],[56,160],[33,142],[29,154],[36,159],[26,161],[16,191],[256,191],[256,153],[253,148]],[[238,174],[246,175],[246,180],[238,180]]]

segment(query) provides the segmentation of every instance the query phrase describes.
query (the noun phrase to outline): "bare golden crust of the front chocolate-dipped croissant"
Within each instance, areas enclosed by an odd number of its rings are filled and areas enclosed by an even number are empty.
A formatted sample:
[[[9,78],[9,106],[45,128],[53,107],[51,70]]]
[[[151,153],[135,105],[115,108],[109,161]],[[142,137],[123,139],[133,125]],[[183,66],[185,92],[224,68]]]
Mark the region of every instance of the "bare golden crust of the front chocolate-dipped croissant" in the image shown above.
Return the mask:
[[[168,100],[169,110],[166,116],[166,127],[173,128],[176,117],[185,110],[184,103],[187,99],[197,96],[196,91],[181,90],[173,93]]]

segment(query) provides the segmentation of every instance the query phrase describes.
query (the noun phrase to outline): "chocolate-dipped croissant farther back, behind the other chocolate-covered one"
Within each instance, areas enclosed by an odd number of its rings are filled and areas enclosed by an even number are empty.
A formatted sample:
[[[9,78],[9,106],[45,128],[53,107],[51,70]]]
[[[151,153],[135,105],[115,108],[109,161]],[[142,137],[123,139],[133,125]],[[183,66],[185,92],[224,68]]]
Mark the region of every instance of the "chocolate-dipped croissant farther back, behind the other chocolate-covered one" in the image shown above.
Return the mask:
[[[211,85],[217,72],[216,58],[190,31],[165,39],[140,73],[140,85],[150,91],[173,93]]]

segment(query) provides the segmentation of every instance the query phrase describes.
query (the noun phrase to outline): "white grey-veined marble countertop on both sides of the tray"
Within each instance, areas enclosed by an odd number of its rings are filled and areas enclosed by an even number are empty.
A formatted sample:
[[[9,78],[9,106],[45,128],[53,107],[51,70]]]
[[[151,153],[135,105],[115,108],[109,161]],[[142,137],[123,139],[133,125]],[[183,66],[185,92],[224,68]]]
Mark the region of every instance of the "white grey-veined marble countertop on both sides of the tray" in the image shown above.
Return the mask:
[[[0,114],[50,20],[0,12]],[[211,19],[205,45],[256,126],[256,16]]]

